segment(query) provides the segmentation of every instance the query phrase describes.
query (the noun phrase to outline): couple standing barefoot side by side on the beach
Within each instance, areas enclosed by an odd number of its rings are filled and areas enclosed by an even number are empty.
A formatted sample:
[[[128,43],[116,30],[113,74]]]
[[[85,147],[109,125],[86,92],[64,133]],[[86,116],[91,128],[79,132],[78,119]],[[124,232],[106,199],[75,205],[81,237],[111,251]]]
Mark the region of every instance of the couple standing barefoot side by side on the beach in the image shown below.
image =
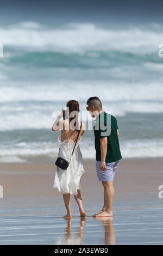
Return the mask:
[[[96,149],[96,172],[99,181],[102,181],[104,187],[104,205],[101,211],[93,215],[93,217],[109,217],[112,216],[112,201],[114,199],[113,180],[115,169],[120,163],[122,156],[119,145],[119,133],[116,118],[103,111],[102,102],[98,97],[90,97],[87,100],[87,111],[91,117],[95,117],[95,125],[93,126],[95,135]],[[84,173],[82,153],[79,148],[79,142],[85,132],[85,124],[78,120],[79,103],[75,100],[67,102],[68,117],[64,120],[64,110],[52,124],[52,130],[61,130],[59,156],[67,161],[70,159],[74,144],[76,148],[70,164],[66,170],[56,168],[54,185],[63,194],[67,215],[71,214],[71,194],[76,199],[79,206],[80,216],[86,216],[83,203],[80,179]],[[75,113],[75,115],[71,114]],[[79,136],[78,136],[79,133]],[[78,136],[78,137],[77,137]]]

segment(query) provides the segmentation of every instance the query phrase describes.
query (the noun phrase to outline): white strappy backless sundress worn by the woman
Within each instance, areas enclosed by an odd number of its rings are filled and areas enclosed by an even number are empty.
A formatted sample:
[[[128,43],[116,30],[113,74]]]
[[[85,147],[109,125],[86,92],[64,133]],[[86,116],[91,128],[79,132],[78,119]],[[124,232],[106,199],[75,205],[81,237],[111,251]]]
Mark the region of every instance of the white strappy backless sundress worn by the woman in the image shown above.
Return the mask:
[[[73,140],[68,139],[61,142],[61,139],[58,138],[58,141],[60,142],[59,156],[69,161],[74,147]],[[81,138],[76,144],[76,148],[74,149],[68,168],[63,170],[55,166],[53,187],[57,187],[61,193],[70,193],[73,196],[78,194],[78,189],[81,189],[80,179],[85,172],[83,167],[83,157],[79,147],[80,141]]]

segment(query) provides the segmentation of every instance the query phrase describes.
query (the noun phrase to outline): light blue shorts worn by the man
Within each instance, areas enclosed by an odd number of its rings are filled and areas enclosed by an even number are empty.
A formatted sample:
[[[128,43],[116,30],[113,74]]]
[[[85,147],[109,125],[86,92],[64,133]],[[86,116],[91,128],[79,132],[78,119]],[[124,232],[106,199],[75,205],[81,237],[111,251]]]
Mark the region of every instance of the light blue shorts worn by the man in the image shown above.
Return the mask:
[[[120,163],[121,159],[112,162],[106,163],[106,170],[101,170],[100,164],[101,161],[96,161],[96,172],[99,181],[113,181],[115,175],[115,169],[117,168],[118,164]]]

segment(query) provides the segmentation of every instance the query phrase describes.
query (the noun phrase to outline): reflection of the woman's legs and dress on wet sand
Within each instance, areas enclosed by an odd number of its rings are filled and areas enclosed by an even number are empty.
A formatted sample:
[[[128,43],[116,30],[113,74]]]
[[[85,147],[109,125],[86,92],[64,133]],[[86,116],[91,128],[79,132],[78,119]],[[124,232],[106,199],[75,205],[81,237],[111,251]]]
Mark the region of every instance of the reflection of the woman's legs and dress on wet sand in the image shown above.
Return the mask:
[[[75,236],[72,236],[72,218],[64,218],[67,220],[65,228],[65,237],[61,241],[61,245],[83,245],[83,227],[85,226],[86,217],[81,217],[79,227],[75,231]]]

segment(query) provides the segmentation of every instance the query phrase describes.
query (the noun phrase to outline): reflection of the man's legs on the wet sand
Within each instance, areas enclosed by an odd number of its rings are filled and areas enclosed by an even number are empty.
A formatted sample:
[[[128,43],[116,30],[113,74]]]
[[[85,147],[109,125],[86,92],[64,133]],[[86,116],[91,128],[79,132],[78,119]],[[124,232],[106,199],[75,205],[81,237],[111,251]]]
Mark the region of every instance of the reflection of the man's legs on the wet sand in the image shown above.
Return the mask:
[[[102,221],[105,230],[105,245],[115,245],[115,232],[112,226],[113,217],[96,217],[97,221]]]

